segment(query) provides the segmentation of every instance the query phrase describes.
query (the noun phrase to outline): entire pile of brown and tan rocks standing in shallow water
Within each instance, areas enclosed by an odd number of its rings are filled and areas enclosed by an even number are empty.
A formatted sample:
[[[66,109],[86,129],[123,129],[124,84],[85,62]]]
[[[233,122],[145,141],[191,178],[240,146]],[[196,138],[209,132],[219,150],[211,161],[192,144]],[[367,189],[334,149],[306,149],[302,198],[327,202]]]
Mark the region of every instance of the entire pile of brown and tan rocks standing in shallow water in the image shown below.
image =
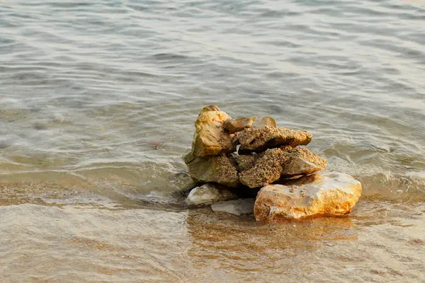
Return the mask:
[[[279,128],[272,117],[254,126],[255,120],[232,119],[215,105],[200,111],[191,152],[183,159],[191,178],[208,185],[193,189],[188,204],[236,198],[230,188],[263,187],[254,205],[257,220],[351,211],[361,195],[360,183],[343,173],[313,174],[326,168],[327,161],[300,147],[310,143],[312,134]],[[271,185],[277,181],[285,185]]]

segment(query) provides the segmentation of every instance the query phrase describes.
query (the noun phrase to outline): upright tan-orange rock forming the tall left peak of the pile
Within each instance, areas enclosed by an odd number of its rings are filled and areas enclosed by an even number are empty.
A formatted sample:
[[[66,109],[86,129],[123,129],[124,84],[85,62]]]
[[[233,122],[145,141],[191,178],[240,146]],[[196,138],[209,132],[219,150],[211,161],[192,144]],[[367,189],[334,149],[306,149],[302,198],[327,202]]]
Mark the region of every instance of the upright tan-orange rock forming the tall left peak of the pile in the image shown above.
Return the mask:
[[[203,108],[195,122],[196,132],[193,135],[192,158],[236,151],[236,144],[232,143],[232,137],[222,127],[223,123],[232,117],[226,112],[215,109],[218,109],[215,105]],[[185,158],[185,161],[186,159],[191,158]]]

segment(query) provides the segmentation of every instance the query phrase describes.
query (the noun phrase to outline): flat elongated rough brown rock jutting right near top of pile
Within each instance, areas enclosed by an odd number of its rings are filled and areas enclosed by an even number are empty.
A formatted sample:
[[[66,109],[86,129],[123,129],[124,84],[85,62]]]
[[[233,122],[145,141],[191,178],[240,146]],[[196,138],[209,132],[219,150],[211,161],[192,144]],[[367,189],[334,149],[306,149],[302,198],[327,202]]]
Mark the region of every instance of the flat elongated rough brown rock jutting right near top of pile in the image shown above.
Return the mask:
[[[238,137],[241,144],[239,154],[261,152],[278,146],[306,145],[312,140],[310,132],[270,126],[244,129],[238,133]]]

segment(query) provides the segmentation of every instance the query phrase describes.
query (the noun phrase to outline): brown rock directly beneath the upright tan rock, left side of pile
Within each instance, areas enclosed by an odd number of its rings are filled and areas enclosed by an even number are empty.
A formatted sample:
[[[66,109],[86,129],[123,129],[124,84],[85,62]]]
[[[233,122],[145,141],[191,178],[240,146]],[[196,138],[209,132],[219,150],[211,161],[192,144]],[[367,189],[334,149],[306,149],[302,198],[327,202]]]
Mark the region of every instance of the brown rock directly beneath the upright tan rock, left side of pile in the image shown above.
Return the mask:
[[[188,168],[196,183],[219,183],[227,187],[239,185],[237,166],[225,154],[195,158],[188,162]]]

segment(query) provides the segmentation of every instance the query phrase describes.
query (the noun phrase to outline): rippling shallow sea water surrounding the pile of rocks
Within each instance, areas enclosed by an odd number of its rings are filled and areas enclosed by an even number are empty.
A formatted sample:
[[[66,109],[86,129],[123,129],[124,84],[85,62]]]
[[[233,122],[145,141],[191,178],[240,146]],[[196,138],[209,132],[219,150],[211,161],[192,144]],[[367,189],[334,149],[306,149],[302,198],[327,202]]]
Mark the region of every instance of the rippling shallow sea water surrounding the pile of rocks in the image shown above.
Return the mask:
[[[421,282],[425,1],[0,2],[0,281]],[[307,129],[350,216],[186,209],[205,105]]]

